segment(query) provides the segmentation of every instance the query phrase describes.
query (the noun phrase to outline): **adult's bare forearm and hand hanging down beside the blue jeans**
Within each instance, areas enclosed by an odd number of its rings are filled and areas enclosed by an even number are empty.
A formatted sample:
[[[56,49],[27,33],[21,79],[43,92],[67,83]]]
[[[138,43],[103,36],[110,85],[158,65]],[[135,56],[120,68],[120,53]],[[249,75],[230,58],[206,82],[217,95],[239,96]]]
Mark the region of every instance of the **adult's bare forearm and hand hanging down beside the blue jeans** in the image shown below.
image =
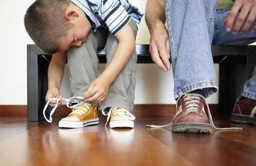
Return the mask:
[[[165,23],[164,0],[148,0],[146,3],[146,24],[150,30],[150,55],[162,70],[170,69],[170,43]]]

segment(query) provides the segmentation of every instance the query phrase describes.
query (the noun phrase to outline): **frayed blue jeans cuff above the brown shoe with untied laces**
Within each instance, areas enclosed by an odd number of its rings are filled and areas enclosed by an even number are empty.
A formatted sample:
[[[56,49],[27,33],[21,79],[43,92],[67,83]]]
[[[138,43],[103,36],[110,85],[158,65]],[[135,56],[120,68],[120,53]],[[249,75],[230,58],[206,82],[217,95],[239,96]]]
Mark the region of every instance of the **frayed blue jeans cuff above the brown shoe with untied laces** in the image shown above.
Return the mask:
[[[218,90],[218,86],[216,85],[215,81],[197,82],[174,91],[174,98],[177,100],[181,95],[188,94],[196,89],[202,89],[203,96],[208,98],[209,96],[215,94],[215,92]]]

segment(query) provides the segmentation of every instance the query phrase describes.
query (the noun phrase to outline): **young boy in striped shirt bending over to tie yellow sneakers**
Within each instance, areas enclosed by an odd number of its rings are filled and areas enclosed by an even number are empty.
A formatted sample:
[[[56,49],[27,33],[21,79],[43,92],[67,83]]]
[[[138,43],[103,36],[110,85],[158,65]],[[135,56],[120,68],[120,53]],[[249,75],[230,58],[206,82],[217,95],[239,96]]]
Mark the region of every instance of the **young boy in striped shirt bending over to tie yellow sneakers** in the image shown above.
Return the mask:
[[[53,54],[46,101],[52,107],[63,101],[59,89],[66,60],[73,97],[80,97],[59,127],[99,123],[97,108],[103,113],[109,108],[104,115],[108,115],[111,128],[133,128],[136,23],[142,16],[124,0],[37,0],[28,8],[24,18],[27,33],[38,47]],[[97,77],[96,53],[102,48],[107,65]]]

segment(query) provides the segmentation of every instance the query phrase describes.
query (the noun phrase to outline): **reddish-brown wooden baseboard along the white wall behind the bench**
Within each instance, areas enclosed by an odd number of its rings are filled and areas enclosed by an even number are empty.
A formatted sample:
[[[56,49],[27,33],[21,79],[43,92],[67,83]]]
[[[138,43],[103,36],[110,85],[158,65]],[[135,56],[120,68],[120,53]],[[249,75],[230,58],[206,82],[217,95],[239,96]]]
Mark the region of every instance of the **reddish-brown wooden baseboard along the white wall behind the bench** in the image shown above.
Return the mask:
[[[209,105],[212,116],[219,115],[219,104]],[[174,116],[176,105],[173,104],[144,104],[134,105],[133,115],[140,117]],[[65,117],[70,113],[70,108],[65,105],[54,112],[54,117]],[[102,114],[99,113],[99,116]],[[27,117],[26,105],[0,105],[0,117]]]

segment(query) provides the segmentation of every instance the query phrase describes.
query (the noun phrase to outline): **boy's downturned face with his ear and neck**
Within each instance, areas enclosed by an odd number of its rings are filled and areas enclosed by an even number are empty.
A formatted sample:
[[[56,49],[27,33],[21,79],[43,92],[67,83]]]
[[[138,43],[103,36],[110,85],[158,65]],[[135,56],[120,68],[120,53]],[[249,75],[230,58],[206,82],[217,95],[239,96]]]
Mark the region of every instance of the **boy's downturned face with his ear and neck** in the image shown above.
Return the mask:
[[[91,31],[91,24],[85,13],[73,3],[66,9],[65,18],[73,24],[67,35],[61,38],[58,52],[63,53],[71,46],[80,47]]]

